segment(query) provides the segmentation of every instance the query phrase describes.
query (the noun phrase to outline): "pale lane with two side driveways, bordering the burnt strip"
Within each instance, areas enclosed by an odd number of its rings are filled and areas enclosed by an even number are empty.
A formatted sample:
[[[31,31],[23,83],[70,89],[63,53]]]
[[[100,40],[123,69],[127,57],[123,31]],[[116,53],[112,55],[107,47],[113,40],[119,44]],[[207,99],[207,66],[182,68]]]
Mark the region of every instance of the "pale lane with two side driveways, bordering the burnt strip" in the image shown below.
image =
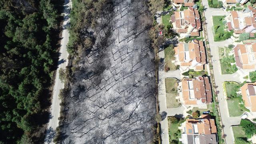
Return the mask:
[[[164,59],[164,51],[159,52],[160,62]],[[159,68],[159,82],[158,82],[158,98],[159,98],[159,106],[160,106],[160,113],[166,112],[166,118],[160,122],[161,124],[161,137],[162,137],[162,144],[169,144],[169,134],[168,134],[168,120],[167,116],[174,116],[183,114],[186,108],[182,105],[179,108],[167,108],[166,107],[166,91],[165,91],[165,78],[178,78],[181,79],[180,70],[175,70],[172,72],[164,72],[164,61],[161,62]],[[186,113],[186,112],[185,112]]]

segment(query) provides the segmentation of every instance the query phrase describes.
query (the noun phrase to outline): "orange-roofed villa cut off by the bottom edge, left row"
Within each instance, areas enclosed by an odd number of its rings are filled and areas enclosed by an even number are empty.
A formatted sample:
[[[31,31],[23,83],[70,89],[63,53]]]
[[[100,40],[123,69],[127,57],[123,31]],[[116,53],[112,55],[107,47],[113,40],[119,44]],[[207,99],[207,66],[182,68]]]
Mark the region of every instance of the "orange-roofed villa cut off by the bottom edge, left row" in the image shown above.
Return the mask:
[[[218,144],[217,127],[208,114],[199,119],[187,119],[182,131],[182,144]]]

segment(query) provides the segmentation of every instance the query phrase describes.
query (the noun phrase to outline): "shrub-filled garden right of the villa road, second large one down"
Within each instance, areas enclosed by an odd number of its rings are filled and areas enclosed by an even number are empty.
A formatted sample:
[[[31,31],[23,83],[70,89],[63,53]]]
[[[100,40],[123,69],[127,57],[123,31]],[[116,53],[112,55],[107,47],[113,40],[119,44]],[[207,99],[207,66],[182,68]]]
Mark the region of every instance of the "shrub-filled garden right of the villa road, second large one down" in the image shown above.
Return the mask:
[[[220,67],[222,74],[234,74],[238,68],[236,67],[234,55],[229,55],[234,45],[230,44],[228,47],[219,48]]]

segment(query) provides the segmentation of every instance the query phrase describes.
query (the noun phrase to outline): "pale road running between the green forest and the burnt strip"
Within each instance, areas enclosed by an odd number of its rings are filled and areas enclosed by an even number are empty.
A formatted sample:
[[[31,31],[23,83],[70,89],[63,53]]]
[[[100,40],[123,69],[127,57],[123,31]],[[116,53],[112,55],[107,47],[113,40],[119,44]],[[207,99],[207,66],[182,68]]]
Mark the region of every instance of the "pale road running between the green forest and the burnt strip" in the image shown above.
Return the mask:
[[[58,126],[58,117],[60,116],[60,100],[58,98],[59,92],[62,88],[64,88],[64,84],[60,81],[59,79],[59,70],[60,68],[65,69],[67,64],[68,64],[68,52],[66,50],[66,45],[68,44],[68,29],[67,26],[69,25],[69,14],[70,14],[70,8],[72,6],[71,0],[65,0],[64,3],[64,22],[63,22],[63,30],[62,30],[62,40],[60,42],[60,56],[59,56],[59,61],[58,61],[58,69],[56,70],[56,78],[54,82],[54,88],[53,88],[53,96],[52,96],[52,105],[50,108],[50,120],[48,123],[47,127],[47,132],[46,132],[46,138],[45,138],[45,143],[53,143],[52,138],[54,137],[55,134],[55,129]]]

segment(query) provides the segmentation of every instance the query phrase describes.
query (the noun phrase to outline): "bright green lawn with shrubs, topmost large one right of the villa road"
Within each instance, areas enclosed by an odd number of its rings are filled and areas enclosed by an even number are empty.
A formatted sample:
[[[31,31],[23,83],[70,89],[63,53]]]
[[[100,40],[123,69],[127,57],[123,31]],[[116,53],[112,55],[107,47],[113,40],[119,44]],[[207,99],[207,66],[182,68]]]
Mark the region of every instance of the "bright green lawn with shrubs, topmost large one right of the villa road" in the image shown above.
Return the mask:
[[[230,32],[225,30],[226,20],[224,16],[212,16],[214,25],[214,41],[220,42],[230,38],[233,34],[233,30]]]

